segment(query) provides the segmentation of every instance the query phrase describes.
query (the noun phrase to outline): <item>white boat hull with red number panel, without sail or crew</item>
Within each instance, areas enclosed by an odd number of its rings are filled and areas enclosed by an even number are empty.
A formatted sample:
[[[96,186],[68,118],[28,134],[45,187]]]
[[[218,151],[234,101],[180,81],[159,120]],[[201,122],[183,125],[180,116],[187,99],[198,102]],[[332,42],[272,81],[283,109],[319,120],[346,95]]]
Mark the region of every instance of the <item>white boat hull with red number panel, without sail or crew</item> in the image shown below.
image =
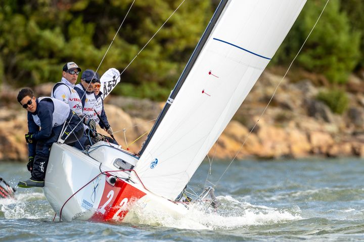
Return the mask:
[[[68,145],[53,144],[44,194],[60,219],[131,220],[130,216],[135,214],[128,211],[135,202],[143,208],[141,212],[163,209],[171,216],[187,213],[185,205],[149,192],[140,180],[128,179],[133,171],[115,167],[118,158],[136,162],[134,155],[99,143],[93,146],[95,150],[90,149],[89,155]]]

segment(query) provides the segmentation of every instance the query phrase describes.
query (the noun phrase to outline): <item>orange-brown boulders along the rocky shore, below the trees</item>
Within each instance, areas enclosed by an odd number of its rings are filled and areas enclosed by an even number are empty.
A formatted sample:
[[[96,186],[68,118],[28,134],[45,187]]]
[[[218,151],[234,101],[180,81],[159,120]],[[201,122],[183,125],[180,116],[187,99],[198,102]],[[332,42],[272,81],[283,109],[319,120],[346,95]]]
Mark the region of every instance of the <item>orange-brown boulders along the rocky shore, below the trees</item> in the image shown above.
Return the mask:
[[[361,92],[364,85],[361,79],[350,77],[346,87],[351,91],[349,108],[342,115],[332,113],[326,104],[315,99],[320,89],[309,79],[293,84],[283,80],[261,115],[281,80],[281,76],[268,71],[262,74],[217,145],[210,150],[210,157],[364,157],[364,95]],[[53,83],[41,85],[35,92],[38,96],[47,95],[52,86]],[[16,103],[16,95],[16,90],[2,88],[0,160],[4,161],[27,160],[26,111]],[[130,97],[106,99],[109,123],[123,148],[134,153],[140,150],[163,105]]]

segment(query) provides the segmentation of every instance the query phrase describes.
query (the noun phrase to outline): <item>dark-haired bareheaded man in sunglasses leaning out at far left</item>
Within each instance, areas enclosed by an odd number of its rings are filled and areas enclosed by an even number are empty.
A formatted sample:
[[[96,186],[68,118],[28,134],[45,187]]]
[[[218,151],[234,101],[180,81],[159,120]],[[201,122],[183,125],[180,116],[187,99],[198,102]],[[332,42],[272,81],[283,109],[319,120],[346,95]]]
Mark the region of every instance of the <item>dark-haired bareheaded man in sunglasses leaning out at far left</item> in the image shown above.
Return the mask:
[[[51,97],[36,98],[33,91],[24,88],[18,93],[18,102],[28,111],[28,143],[30,179],[19,181],[21,188],[44,187],[50,148],[61,136],[65,144],[74,143],[83,135],[81,119],[68,104]],[[66,124],[65,124],[66,123]],[[39,130],[40,127],[40,130]],[[72,131],[72,132],[71,132]]]

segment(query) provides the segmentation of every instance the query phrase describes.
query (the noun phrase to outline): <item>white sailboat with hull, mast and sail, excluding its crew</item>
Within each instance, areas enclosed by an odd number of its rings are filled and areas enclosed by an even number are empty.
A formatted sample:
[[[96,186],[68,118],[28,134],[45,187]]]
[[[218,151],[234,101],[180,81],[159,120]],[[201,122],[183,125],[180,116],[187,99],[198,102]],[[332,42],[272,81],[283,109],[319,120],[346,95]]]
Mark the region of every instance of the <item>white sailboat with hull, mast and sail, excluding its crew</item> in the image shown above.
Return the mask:
[[[185,214],[179,194],[305,2],[222,0],[138,155],[105,142],[87,151],[53,144],[44,194],[60,219],[123,221],[135,203]]]

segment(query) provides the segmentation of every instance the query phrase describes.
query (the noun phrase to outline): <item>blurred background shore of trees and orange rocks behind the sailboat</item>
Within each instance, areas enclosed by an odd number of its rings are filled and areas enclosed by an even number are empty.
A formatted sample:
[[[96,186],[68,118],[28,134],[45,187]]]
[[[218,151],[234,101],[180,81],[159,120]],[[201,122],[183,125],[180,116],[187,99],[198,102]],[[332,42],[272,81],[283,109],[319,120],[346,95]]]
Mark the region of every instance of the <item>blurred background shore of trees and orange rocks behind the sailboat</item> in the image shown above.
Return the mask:
[[[2,1],[0,160],[27,160],[26,115],[16,103],[17,91],[30,87],[37,96],[49,96],[60,80],[62,66],[69,61],[82,70],[96,70],[132,2]],[[141,148],[146,139],[142,135],[153,126],[218,3],[186,1],[154,36],[180,1],[135,1],[98,70],[102,75],[109,68],[123,71],[128,67],[105,105],[123,148],[126,143],[132,152]],[[232,158],[238,150],[238,159],[364,157],[362,0],[328,3],[288,76],[246,139],[326,3],[307,1],[267,70],[218,145],[212,147],[210,157]],[[150,40],[151,36],[154,38]]]

